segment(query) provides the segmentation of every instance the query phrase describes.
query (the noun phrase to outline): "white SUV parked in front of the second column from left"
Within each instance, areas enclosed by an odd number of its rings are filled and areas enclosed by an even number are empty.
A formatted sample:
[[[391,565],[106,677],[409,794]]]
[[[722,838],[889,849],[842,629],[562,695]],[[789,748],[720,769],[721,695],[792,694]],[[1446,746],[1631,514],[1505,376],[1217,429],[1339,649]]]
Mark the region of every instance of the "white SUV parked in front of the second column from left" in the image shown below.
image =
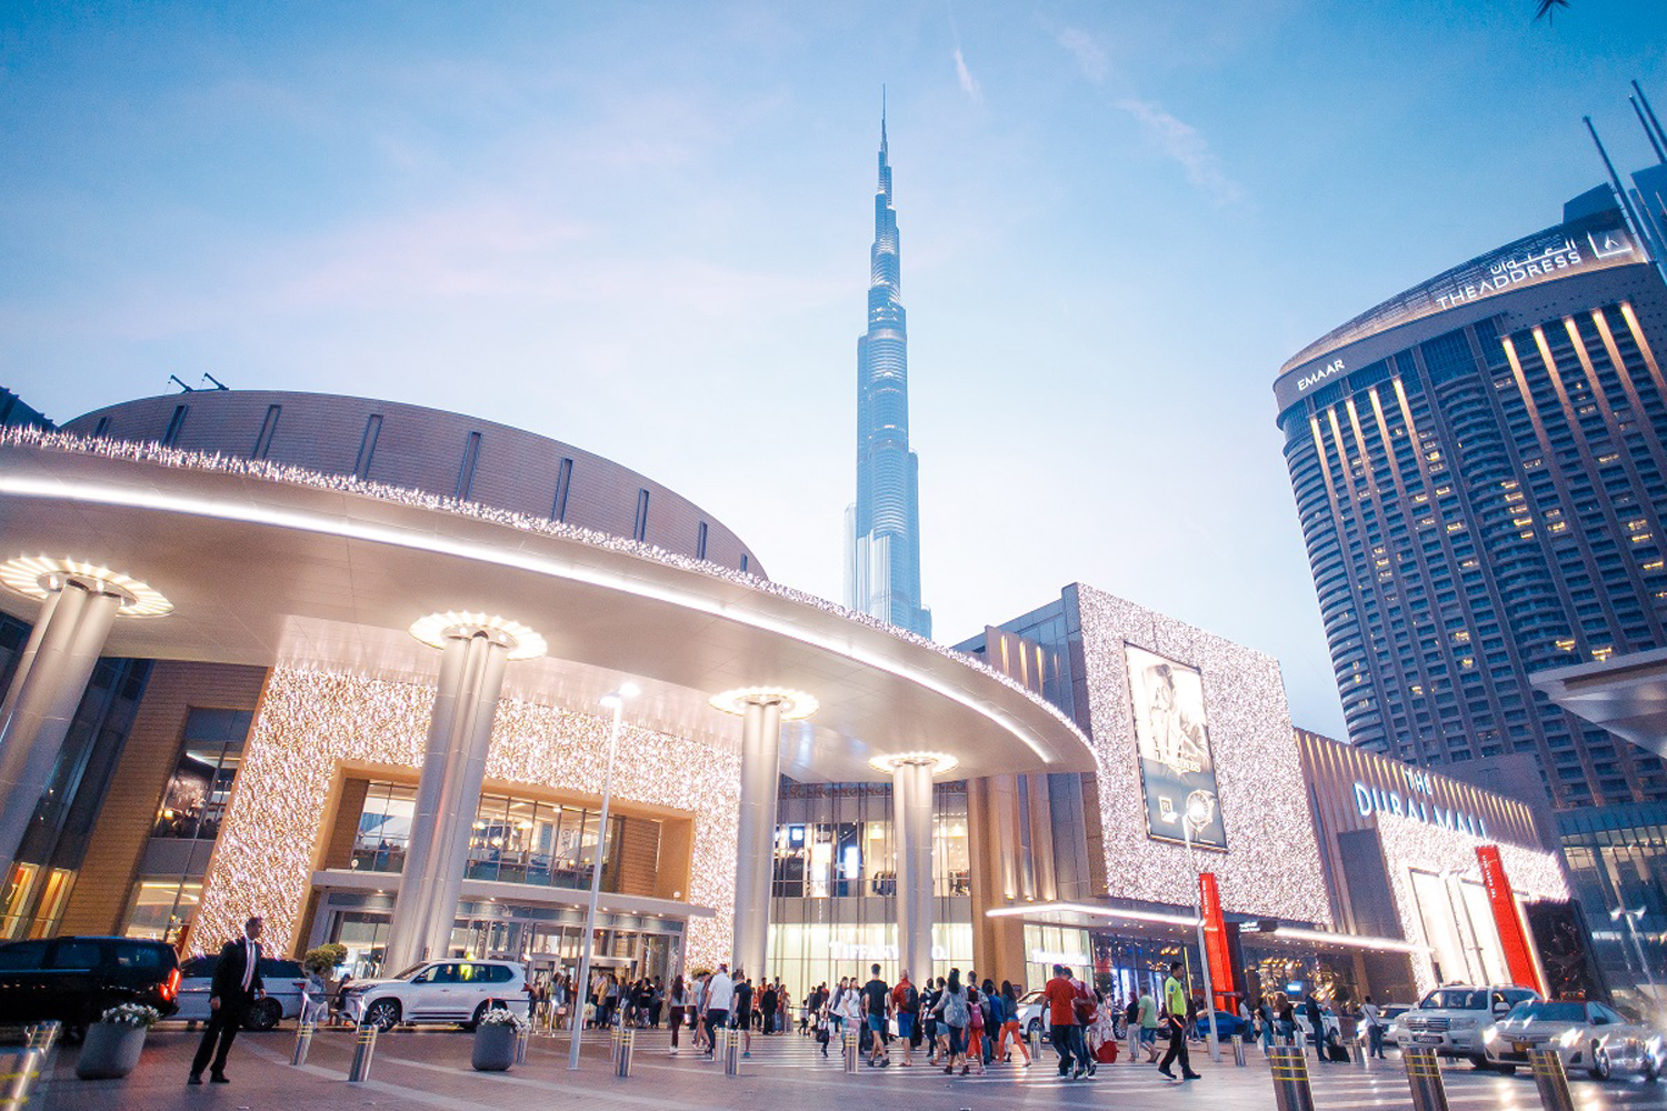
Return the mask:
[[[488,1008],[527,1014],[527,969],[512,961],[423,961],[388,979],[347,986],[353,1023],[392,1029],[400,1023],[458,1023],[473,1029]]]

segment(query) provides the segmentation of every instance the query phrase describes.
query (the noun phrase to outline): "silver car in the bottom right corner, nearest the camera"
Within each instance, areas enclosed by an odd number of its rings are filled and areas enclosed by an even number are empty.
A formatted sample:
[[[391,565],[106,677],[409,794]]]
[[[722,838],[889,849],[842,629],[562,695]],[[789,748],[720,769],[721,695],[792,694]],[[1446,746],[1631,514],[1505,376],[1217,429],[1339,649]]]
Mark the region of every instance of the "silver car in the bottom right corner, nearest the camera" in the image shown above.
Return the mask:
[[[1602,1003],[1519,1003],[1482,1043],[1489,1064],[1502,1073],[1527,1066],[1530,1049],[1555,1049],[1565,1069],[1585,1069],[1592,1079],[1609,1079],[1615,1071],[1655,1079],[1667,1066],[1659,1029],[1629,1023]]]

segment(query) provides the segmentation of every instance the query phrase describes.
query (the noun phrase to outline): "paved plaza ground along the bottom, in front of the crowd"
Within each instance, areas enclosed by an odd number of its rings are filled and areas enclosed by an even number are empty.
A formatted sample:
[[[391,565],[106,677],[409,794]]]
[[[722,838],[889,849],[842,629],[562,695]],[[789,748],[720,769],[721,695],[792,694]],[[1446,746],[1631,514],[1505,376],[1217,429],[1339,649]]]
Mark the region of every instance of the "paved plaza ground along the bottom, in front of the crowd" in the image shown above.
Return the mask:
[[[288,1031],[243,1034],[237,1041],[230,1084],[187,1088],[185,1074],[197,1034],[180,1028],[152,1031],[145,1058],[125,1081],[78,1081],[75,1049],[60,1051],[47,1108],[53,1111],[363,1111],[365,1108],[433,1108],[437,1111],[527,1111],[530,1108],[733,1108],[797,1109],[885,1106],[907,1111],[1009,1111],[1014,1108],[1129,1108],[1130,1111],[1250,1111],[1274,1108],[1269,1068],[1252,1053],[1245,1068],[1232,1056],[1212,1066],[1200,1053],[1204,1079],[1180,1084],[1157,1076],[1152,1066],[1102,1064],[1094,1079],[1062,1081],[1052,1054],[1032,1068],[997,1066],[987,1076],[949,1078],[940,1069],[862,1068],[849,1076],[837,1054],[823,1059],[802,1038],[755,1038],[752,1059],[738,1078],[722,1064],[688,1054],[667,1056],[663,1031],[645,1031],[633,1058],[633,1074],[618,1079],[607,1058],[607,1039],[592,1039],[582,1068],[567,1069],[567,1038],[535,1039],[525,1064],[510,1073],[475,1073],[468,1064],[470,1038],[455,1031],[395,1031],[377,1044],[368,1083],[348,1084],[350,1031],[320,1031],[308,1063],[292,1068]],[[1312,1064],[1312,1061],[1310,1061]],[[1390,1056],[1370,1071],[1354,1064],[1312,1066],[1317,1111],[1410,1108],[1400,1061]],[[1614,1081],[1572,1083],[1580,1111],[1667,1108],[1667,1084]],[[1447,1073],[1454,1111],[1540,1108],[1534,1081],[1475,1073]],[[859,1103],[864,1101],[864,1103]]]

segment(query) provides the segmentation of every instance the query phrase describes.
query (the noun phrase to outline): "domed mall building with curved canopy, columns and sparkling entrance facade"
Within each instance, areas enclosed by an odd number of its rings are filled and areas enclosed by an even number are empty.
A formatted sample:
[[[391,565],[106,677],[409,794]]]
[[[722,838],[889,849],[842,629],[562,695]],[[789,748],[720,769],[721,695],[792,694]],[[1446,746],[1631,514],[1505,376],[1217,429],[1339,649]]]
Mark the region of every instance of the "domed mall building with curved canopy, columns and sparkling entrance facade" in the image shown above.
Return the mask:
[[[232,391],[72,428],[0,431],[7,936],[202,949],[262,913],[357,974],[587,948],[757,973],[788,776],[892,785],[867,844],[925,964],[967,944],[935,923],[965,818],[934,851],[934,775],[1092,766],[1020,683],[770,583],[698,506],[557,441]]]

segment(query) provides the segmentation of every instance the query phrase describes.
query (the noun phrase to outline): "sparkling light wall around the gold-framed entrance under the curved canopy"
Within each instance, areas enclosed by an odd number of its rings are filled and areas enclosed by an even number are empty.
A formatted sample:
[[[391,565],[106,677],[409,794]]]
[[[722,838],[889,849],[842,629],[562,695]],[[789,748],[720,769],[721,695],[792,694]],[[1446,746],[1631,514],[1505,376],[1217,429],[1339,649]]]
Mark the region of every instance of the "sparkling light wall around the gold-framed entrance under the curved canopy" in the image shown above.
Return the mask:
[[[273,951],[290,951],[342,761],[420,768],[433,688],[342,673],[275,670],[243,750],[237,788],[197,913],[198,946],[237,936],[265,914]],[[487,778],[600,796],[608,718],[503,698]],[[625,726],[613,796],[693,815],[687,898],[715,918],[692,918],[690,966],[728,956],[735,894],[740,756],[720,745]]]

